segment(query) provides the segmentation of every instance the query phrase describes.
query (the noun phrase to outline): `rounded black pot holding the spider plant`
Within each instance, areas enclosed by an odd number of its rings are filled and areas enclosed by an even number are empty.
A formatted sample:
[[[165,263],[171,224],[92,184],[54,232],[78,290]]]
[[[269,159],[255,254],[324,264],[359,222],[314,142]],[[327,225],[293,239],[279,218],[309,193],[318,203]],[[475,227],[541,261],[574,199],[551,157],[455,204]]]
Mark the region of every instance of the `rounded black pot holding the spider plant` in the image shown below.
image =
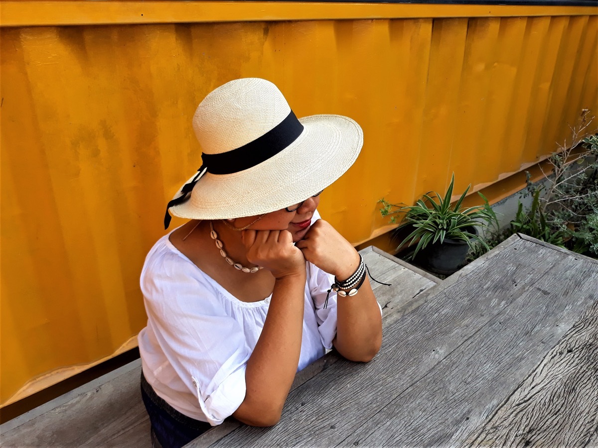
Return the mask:
[[[467,229],[472,234],[477,235],[475,227]],[[438,241],[417,253],[413,260],[422,268],[436,274],[451,275],[465,266],[465,257],[469,251],[469,246],[465,241],[444,239],[444,243]]]

